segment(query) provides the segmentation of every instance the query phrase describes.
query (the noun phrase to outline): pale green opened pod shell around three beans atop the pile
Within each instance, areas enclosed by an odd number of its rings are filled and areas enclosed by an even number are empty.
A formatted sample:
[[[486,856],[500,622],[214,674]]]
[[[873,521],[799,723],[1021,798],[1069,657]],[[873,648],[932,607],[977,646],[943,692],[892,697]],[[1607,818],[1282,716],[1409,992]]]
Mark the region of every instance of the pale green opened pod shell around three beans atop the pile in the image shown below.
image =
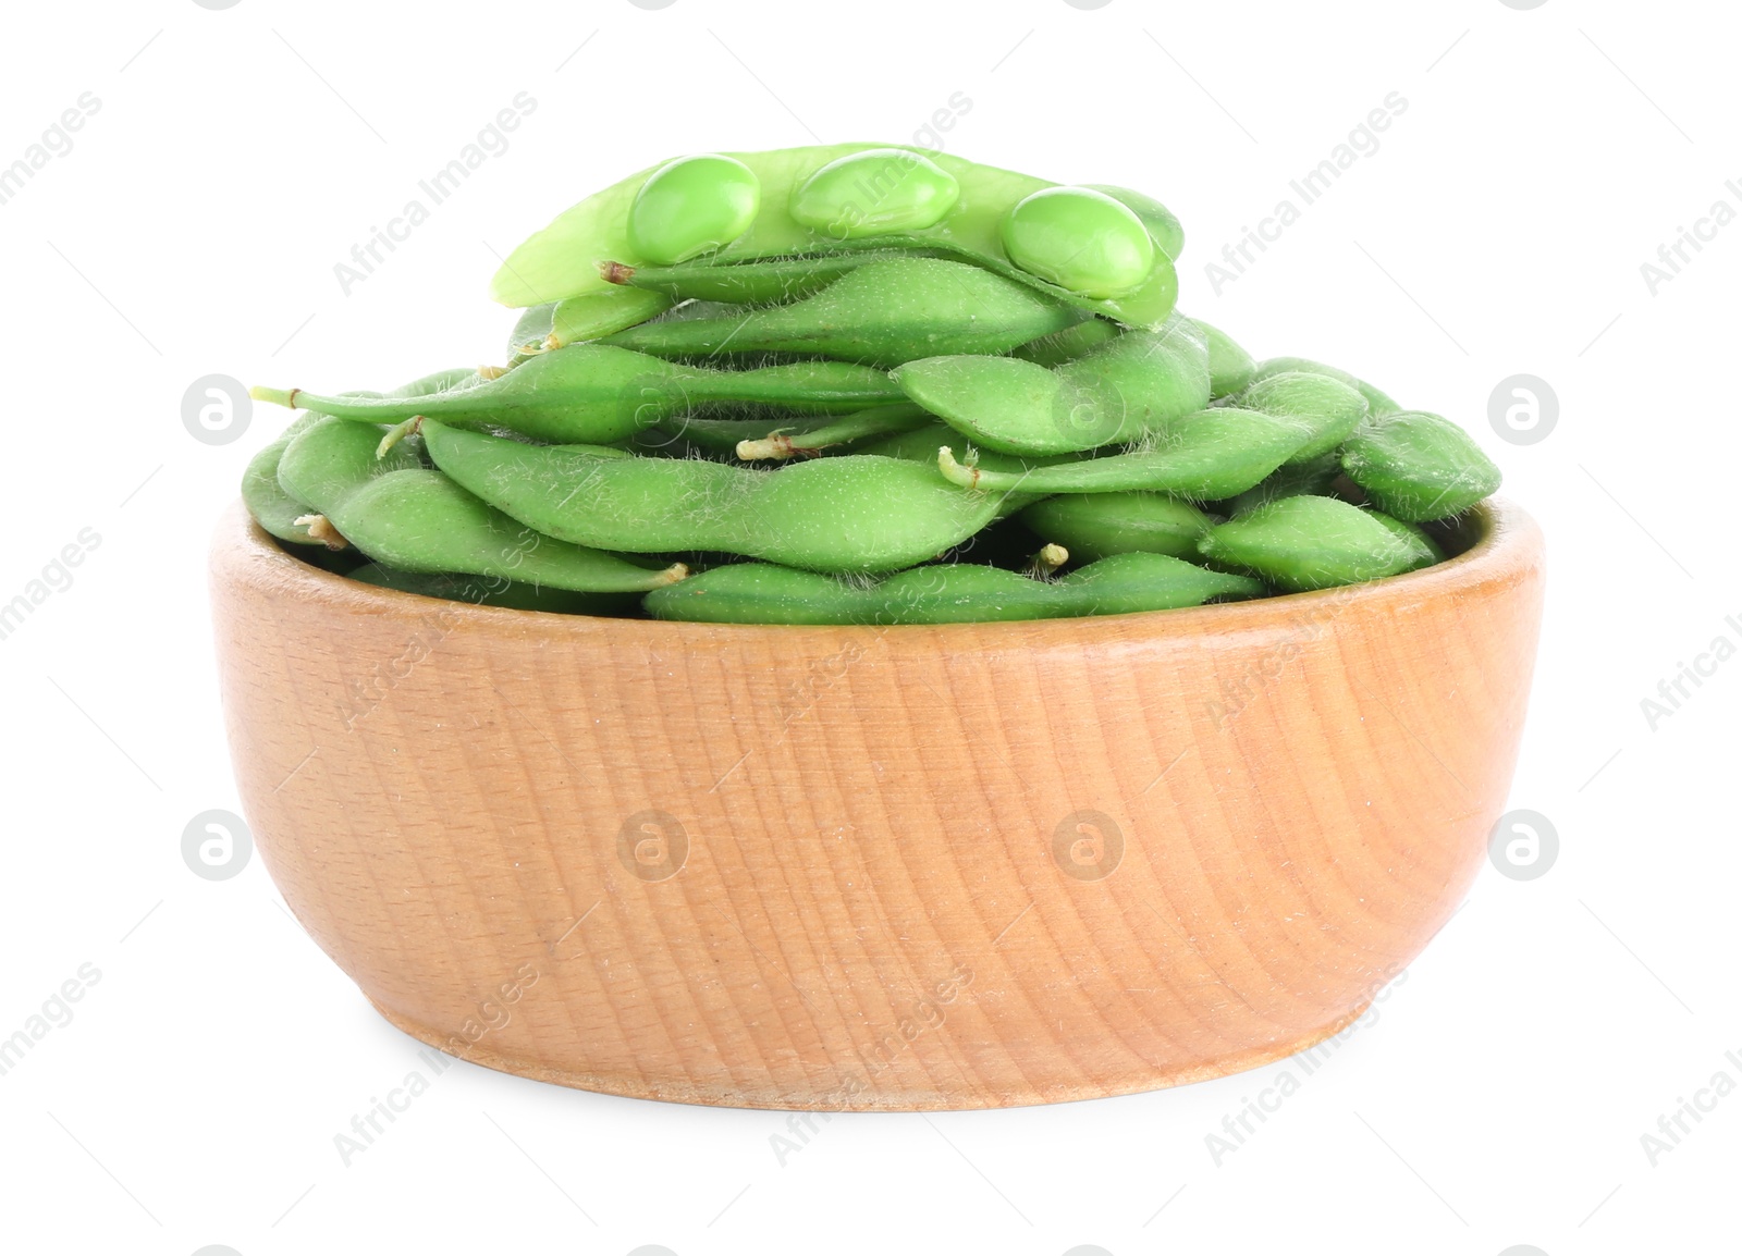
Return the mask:
[[[1117,298],[1082,296],[1024,272],[1003,247],[1003,216],[1024,197],[1057,185],[1016,171],[979,165],[949,153],[904,150],[934,162],[960,185],[962,195],[955,207],[932,226],[836,240],[827,232],[805,226],[793,218],[789,204],[794,188],[829,162],[873,148],[887,145],[819,145],[763,153],[725,153],[756,174],[761,209],[749,230],[712,254],[712,261],[737,263],[857,247],[932,249],[1030,284],[1068,305],[1103,314],[1125,326],[1158,328],[1172,314],[1179,282],[1164,244],[1157,246],[1153,265],[1143,282]],[[631,206],[650,174],[652,169],[641,171],[596,192],[523,242],[496,272],[491,296],[503,305],[535,305],[578,296],[608,282],[599,275],[601,261],[617,260],[631,267],[655,261],[631,246],[627,226]],[[876,206],[876,197],[871,197],[864,209],[874,213]]]

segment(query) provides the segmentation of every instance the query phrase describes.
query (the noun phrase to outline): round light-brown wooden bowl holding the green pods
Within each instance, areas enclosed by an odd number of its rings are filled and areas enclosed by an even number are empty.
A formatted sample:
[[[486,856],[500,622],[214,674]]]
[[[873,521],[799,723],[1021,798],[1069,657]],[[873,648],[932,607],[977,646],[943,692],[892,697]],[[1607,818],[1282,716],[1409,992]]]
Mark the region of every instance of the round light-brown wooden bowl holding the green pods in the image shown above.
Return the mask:
[[[751,1108],[1150,1091],[1357,1017],[1486,855],[1542,537],[1200,610],[948,627],[383,591],[237,507],[230,744],[286,902],[463,1059]]]

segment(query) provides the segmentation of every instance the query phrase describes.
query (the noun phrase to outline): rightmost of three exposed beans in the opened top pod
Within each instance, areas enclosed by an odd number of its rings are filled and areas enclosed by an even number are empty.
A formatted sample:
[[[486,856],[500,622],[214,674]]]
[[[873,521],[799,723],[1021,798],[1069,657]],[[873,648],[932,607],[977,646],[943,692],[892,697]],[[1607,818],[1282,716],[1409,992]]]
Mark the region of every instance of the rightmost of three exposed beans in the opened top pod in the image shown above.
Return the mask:
[[[1028,273],[1094,300],[1131,291],[1155,267],[1143,219],[1090,188],[1042,188],[1010,206],[1003,251]]]

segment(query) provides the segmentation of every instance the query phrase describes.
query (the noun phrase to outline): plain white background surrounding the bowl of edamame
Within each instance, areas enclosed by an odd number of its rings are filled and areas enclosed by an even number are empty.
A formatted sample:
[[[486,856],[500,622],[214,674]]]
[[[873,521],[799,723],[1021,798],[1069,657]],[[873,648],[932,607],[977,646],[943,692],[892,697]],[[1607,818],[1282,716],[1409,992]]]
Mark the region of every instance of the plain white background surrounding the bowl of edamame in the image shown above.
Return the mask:
[[[216,2],[216,0],[214,0]],[[1728,5],[1000,5],[193,0],[12,5],[0,165],[82,92],[75,146],[0,206],[0,601],[85,528],[71,587],[0,641],[0,1037],[101,979],[0,1077],[0,1247],[30,1253],[1057,1254],[1737,1251],[1742,1094],[1653,1167],[1641,1134],[1742,1054],[1742,662],[1653,730],[1641,699],[1742,643],[1742,226],[1653,294],[1660,244],[1742,179]],[[375,275],[333,267],[517,92],[537,110]],[[1284,1066],[1000,1113],[786,1117],[570,1092],[469,1064],[366,1155],[333,1138],[420,1068],[287,918],[237,810],[206,547],[284,415],[211,446],[199,376],[390,387],[500,361],[484,286],[523,235],[648,162],[906,141],[1144,188],[1181,307],[1465,423],[1543,524],[1550,592],[1510,807],[1561,852],[1484,869],[1383,1016],[1239,1153],[1205,1134]],[[1408,110],[1221,294],[1204,263],[1388,92]],[[1495,385],[1559,397],[1529,446]],[[1728,1185],[1726,1185],[1728,1183]]]

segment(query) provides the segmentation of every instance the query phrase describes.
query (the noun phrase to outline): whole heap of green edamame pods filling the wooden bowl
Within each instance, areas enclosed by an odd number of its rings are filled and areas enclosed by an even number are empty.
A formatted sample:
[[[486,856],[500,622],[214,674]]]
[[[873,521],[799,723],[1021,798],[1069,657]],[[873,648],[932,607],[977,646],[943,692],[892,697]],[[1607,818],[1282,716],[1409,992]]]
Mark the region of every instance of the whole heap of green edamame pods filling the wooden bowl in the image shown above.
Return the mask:
[[[1143,193],[946,153],[683,157],[514,251],[505,366],[256,388],[305,413],[244,498],[378,585],[747,624],[1165,610],[1442,561],[1495,465],[1179,314],[1181,246]]]

